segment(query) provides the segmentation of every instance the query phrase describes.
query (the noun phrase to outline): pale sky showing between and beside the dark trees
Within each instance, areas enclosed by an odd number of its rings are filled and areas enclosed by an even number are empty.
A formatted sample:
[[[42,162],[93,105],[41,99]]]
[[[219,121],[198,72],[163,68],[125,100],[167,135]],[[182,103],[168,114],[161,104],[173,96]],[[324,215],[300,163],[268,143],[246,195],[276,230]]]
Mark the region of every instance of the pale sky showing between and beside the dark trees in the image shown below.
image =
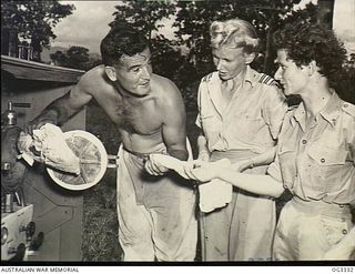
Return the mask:
[[[73,13],[57,24],[53,29],[57,39],[52,47],[70,48],[80,45],[91,53],[99,53],[101,40],[110,30],[115,6],[120,1],[62,1],[75,6]],[[303,8],[307,2],[317,0],[302,0],[296,8]],[[355,0],[335,0],[334,30],[346,48],[355,53]],[[163,30],[168,38],[172,37],[169,24]]]

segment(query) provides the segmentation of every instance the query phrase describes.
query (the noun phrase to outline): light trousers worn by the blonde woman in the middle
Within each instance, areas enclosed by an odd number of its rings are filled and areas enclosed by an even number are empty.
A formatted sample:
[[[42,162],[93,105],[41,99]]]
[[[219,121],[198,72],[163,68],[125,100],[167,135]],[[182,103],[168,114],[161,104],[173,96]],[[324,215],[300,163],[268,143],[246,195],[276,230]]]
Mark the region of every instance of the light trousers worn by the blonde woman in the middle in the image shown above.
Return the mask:
[[[236,162],[252,152],[212,153],[211,161]],[[265,174],[266,166],[245,171]],[[276,225],[275,201],[233,189],[232,202],[211,213],[200,213],[203,261],[271,261]]]

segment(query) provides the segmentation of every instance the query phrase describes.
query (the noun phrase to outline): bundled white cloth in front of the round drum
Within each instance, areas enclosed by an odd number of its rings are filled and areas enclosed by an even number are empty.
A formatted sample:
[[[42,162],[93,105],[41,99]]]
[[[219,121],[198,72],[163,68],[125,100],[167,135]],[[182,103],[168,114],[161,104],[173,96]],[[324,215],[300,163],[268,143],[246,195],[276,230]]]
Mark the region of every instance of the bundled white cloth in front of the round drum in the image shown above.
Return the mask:
[[[80,174],[80,159],[69,148],[62,130],[54,124],[47,123],[33,130],[32,135],[21,132],[18,149],[19,158],[30,165],[38,161],[59,171]]]

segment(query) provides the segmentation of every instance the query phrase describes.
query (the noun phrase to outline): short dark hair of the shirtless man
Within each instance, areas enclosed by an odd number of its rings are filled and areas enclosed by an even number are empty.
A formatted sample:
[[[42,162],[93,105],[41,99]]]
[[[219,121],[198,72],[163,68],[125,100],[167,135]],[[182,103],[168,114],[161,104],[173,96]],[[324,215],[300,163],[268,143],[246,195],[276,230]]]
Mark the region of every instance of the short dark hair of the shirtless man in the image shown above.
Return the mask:
[[[148,47],[148,40],[139,30],[129,26],[116,26],[101,41],[100,50],[103,63],[113,65],[123,54],[132,57]]]

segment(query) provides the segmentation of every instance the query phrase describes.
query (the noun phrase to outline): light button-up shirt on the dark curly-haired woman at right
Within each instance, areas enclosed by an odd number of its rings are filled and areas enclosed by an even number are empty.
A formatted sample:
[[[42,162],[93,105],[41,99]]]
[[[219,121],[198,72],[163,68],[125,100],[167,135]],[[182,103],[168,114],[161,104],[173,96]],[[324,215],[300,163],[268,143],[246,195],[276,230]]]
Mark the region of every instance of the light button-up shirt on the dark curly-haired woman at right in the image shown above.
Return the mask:
[[[355,105],[333,92],[308,129],[303,103],[290,111],[267,172],[305,201],[354,203]]]

